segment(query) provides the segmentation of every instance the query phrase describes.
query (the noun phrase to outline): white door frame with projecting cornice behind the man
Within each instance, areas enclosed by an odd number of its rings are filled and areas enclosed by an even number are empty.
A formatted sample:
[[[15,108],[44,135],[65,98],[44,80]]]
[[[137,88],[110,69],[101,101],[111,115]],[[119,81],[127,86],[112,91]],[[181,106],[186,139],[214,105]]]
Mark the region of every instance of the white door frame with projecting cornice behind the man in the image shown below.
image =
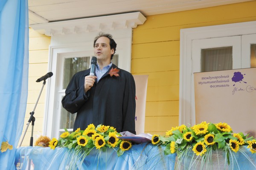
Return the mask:
[[[116,14],[102,17],[83,18],[52,23],[30,25],[32,29],[51,36],[49,46],[48,71],[53,76],[47,81],[43,134],[58,138],[61,100],[58,96],[62,86],[63,63],[58,58],[63,56],[93,55],[93,40],[98,32],[113,35],[117,43],[116,54],[119,55],[118,66],[131,71],[132,29],[143,24],[146,18],[140,12]],[[63,68],[63,67],[62,67]]]

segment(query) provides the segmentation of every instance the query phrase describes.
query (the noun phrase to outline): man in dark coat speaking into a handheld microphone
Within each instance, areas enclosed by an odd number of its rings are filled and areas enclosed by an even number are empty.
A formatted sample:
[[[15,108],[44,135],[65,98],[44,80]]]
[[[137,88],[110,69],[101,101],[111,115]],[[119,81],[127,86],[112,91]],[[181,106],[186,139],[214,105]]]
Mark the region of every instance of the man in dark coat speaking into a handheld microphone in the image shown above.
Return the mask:
[[[116,51],[112,35],[99,33],[93,46],[96,58],[92,60],[92,68],[71,78],[62,99],[68,112],[77,112],[73,130],[104,124],[115,127],[117,132],[136,134],[134,78],[111,63]]]

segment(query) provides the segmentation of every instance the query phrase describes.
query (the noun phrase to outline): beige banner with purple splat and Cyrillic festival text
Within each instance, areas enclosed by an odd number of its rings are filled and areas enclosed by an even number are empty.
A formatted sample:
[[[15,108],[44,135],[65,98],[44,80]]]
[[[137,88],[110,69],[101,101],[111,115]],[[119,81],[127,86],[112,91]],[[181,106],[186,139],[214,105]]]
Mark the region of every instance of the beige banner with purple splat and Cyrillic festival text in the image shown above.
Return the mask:
[[[225,122],[234,133],[256,135],[256,68],[199,72],[195,78],[195,118]]]

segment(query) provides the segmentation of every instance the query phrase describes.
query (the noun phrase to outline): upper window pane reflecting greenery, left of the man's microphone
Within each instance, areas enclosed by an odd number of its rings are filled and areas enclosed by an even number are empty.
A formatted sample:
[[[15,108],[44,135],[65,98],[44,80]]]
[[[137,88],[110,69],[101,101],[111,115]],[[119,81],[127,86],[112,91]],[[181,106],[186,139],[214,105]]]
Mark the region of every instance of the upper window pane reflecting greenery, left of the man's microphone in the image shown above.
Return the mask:
[[[63,86],[66,89],[72,76],[82,70],[89,69],[90,57],[65,58],[63,68]]]

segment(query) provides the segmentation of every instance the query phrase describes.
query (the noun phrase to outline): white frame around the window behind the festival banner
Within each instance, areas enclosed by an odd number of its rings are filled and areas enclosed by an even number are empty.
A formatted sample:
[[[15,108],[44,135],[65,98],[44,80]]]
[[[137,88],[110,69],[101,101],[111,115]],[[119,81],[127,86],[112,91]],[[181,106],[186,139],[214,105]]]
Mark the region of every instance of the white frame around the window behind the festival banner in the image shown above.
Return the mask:
[[[193,63],[195,60],[195,58],[192,57],[193,41],[207,38],[230,37],[250,34],[256,34],[256,21],[180,30],[179,124],[195,124],[193,73],[198,72],[198,67],[195,67],[195,65],[198,64],[200,68],[201,63]],[[243,41],[241,46],[243,49]],[[250,67],[250,62],[244,58],[241,58],[241,60],[241,68]]]

